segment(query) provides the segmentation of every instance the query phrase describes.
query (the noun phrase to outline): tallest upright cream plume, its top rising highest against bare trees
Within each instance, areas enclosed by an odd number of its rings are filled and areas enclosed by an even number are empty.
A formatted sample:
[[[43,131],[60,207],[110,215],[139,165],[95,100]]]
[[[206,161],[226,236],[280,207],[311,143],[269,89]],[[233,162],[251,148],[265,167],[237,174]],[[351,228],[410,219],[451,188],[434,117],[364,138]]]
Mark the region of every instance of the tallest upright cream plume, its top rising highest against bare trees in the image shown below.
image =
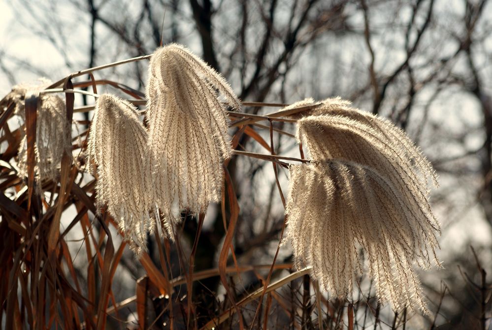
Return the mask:
[[[239,101],[219,73],[178,44],[152,55],[146,94],[156,200],[173,220],[184,209],[205,212],[220,199],[231,153],[222,101],[232,109]]]

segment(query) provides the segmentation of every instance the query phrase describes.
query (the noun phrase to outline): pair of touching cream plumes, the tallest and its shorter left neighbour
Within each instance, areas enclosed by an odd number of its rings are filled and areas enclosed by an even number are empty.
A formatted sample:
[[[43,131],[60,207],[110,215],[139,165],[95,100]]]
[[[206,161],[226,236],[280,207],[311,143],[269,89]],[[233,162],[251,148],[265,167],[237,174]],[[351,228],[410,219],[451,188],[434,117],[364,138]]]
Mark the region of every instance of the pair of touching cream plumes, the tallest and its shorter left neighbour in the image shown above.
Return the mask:
[[[146,93],[148,130],[131,104],[101,96],[88,147],[98,166],[98,205],[108,205],[137,253],[155,219],[172,238],[182,210],[196,215],[219,201],[231,153],[221,95],[240,107],[225,79],[177,44],[153,54]]]

